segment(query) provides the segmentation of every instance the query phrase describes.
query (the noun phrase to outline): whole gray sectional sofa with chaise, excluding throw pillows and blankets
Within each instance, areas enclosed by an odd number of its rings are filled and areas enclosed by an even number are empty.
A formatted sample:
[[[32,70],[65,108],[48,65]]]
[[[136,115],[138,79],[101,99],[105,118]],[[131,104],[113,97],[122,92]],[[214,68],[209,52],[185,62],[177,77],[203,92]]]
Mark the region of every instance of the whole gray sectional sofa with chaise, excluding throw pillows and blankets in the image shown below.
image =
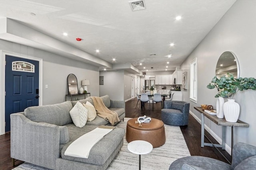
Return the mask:
[[[105,106],[125,117],[125,102],[101,97]],[[91,98],[79,100],[81,103]],[[67,147],[80,136],[99,125],[110,125],[98,115],[82,128],[72,122],[69,111],[77,101],[61,104],[28,107],[24,112],[13,113],[11,117],[11,157],[54,170],[104,170],[121,149],[125,130],[115,128],[104,136],[92,149],[89,157],[65,156]],[[14,162],[14,161],[13,161]]]

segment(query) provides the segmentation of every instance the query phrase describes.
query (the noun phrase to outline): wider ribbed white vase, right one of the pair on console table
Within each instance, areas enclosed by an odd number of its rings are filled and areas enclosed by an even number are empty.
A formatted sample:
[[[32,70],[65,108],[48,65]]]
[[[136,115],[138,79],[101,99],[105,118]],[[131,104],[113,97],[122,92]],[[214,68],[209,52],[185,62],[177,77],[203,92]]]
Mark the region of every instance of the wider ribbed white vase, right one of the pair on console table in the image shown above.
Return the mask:
[[[234,99],[228,99],[228,102],[223,105],[223,111],[226,121],[236,122],[239,117],[240,106]]]

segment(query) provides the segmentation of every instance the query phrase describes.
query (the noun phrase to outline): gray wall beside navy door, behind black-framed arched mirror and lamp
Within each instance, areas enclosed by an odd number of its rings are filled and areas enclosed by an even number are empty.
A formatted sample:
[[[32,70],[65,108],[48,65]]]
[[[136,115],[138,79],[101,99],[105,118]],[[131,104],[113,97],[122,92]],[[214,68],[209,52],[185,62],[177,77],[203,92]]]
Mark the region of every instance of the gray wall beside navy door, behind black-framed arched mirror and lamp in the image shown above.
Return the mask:
[[[43,105],[65,101],[68,94],[67,76],[71,73],[78,79],[78,88],[82,80],[90,80],[88,92],[91,96],[99,96],[99,68],[96,66],[10,41],[0,40],[0,50],[43,59],[43,89],[40,89],[43,92]],[[45,88],[46,84],[48,89]]]

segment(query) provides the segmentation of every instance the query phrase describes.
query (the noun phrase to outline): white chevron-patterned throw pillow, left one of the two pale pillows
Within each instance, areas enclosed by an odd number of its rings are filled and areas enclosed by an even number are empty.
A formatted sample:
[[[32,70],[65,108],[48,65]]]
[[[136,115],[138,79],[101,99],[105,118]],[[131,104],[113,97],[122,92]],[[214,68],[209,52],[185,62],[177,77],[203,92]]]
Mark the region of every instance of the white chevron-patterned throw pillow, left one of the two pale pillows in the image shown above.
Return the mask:
[[[69,113],[76,127],[83,127],[86,124],[88,110],[80,102],[77,102]]]

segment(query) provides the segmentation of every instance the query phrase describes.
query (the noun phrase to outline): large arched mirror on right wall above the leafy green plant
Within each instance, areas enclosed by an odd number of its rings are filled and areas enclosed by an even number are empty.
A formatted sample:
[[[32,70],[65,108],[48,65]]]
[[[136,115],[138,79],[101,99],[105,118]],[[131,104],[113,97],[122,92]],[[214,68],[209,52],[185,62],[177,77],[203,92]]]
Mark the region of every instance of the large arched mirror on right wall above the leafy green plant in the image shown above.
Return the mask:
[[[226,51],[220,55],[216,65],[216,76],[220,78],[227,73],[232,73],[234,78],[239,77],[239,64],[236,55],[230,51]]]

